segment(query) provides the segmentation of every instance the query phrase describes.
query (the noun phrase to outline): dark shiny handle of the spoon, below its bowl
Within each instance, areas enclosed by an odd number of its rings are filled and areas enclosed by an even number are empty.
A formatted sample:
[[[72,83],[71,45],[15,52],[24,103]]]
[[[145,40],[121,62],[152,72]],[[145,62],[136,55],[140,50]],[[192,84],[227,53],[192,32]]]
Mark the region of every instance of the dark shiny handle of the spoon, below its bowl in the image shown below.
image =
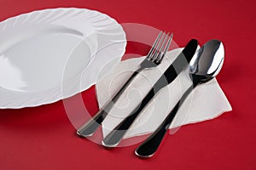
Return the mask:
[[[135,150],[135,154],[140,157],[151,157],[154,156],[155,151],[159,148],[159,145],[164,138],[167,130],[169,129],[172,120],[177,114],[179,107],[183,104],[183,101],[188,97],[190,92],[195,88],[193,85],[190,86],[186,92],[183,94],[182,98],[179,99],[177,104],[174,106],[172,111],[166,116],[164,122],[160,124],[159,127],[152,133],[148,139],[146,139],[143,144],[141,144],[137,150]]]

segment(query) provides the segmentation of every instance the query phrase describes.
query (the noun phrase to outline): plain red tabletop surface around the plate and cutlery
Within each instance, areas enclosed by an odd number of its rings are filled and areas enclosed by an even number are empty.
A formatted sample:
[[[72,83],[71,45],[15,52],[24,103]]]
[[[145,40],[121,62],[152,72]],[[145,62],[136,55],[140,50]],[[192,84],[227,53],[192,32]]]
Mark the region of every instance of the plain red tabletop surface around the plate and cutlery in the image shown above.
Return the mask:
[[[116,150],[80,139],[61,101],[0,111],[0,169],[255,169],[255,8],[249,1],[0,0],[0,20],[36,9],[79,7],[109,14],[119,23],[141,23],[173,31],[184,46],[224,42],[225,63],[218,82],[233,111],[168,135],[153,159],[134,156],[137,145]],[[4,43],[4,42],[0,42]],[[131,46],[128,48],[132,48]],[[145,49],[146,51],[146,49]],[[95,89],[83,93],[96,113]]]

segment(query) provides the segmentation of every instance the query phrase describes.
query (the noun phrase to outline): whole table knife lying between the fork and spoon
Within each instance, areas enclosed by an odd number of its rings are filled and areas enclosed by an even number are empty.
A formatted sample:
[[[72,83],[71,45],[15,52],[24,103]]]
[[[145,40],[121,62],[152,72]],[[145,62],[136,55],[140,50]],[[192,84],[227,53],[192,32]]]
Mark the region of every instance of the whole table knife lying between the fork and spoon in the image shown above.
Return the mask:
[[[177,75],[183,71],[184,67],[189,65],[189,61],[194,56],[197,45],[197,40],[192,39],[189,41],[186,47],[183,48],[182,53],[180,53],[177,56],[177,59],[173,61],[172,65],[170,65],[159,80],[154,83],[154,87],[151,88],[143,101],[137,105],[135,110],[133,110],[129,116],[125,117],[117,127],[114,127],[113,131],[108,133],[106,138],[102,140],[102,145],[106,147],[115,147],[119,144],[139,113],[143,111],[143,108],[148,105],[148,102],[154,98],[154,94],[158,93],[161,88],[164,88],[167,84],[171,83]]]

